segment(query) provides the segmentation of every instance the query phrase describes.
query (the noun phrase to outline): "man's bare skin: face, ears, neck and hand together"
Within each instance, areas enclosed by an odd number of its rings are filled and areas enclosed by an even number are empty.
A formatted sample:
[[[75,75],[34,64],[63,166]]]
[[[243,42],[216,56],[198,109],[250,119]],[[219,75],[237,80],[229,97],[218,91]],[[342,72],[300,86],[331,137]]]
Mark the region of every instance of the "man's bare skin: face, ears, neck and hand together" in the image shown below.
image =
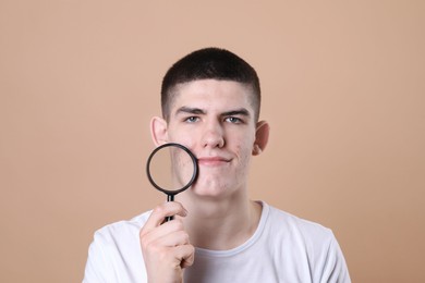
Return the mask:
[[[198,159],[195,184],[177,201],[154,209],[141,230],[149,282],[182,282],[194,246],[223,250],[255,232],[262,207],[248,199],[252,156],[267,145],[269,126],[256,122],[251,90],[231,81],[201,79],[177,86],[169,121],[154,118],[154,143],[180,143]],[[175,220],[163,223],[167,216]]]

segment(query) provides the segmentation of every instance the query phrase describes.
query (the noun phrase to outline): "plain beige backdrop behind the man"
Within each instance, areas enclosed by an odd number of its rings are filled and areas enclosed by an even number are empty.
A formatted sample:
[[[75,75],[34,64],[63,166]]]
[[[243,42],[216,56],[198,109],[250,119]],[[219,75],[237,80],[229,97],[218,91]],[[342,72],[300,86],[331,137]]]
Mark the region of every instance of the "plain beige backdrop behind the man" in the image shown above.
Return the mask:
[[[161,77],[218,46],[262,79],[253,198],[331,227],[354,282],[425,282],[424,3],[0,0],[0,281],[78,282],[96,229],[163,200]]]

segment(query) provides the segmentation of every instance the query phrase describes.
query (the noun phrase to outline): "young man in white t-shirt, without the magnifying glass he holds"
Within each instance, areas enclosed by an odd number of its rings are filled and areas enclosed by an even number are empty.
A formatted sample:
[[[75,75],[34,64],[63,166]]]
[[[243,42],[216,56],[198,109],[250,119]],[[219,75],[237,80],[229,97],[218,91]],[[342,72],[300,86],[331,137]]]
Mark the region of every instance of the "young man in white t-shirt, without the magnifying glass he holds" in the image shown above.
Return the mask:
[[[161,106],[154,143],[191,149],[196,182],[96,232],[84,282],[350,282],[330,230],[248,198],[251,158],[269,134],[251,65],[217,48],[190,53],[166,74]]]

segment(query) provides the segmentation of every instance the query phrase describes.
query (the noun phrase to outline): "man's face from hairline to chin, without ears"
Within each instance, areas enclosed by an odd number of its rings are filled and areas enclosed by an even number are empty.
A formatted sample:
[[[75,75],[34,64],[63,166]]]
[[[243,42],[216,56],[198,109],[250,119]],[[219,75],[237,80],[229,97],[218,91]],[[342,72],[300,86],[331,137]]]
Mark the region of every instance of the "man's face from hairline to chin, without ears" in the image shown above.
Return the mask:
[[[250,89],[216,79],[177,87],[167,139],[186,146],[197,157],[195,194],[227,196],[246,187],[256,130]]]

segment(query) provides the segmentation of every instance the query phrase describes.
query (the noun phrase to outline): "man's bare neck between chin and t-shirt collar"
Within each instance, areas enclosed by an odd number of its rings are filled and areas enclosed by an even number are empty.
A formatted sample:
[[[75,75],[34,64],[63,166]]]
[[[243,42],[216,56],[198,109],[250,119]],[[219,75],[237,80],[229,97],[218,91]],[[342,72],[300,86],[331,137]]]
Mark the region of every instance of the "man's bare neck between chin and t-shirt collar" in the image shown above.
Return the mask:
[[[246,192],[246,190],[241,190]],[[226,250],[246,242],[255,232],[262,206],[250,200],[246,193],[222,199],[181,194],[178,201],[187,209],[184,226],[195,247]]]

